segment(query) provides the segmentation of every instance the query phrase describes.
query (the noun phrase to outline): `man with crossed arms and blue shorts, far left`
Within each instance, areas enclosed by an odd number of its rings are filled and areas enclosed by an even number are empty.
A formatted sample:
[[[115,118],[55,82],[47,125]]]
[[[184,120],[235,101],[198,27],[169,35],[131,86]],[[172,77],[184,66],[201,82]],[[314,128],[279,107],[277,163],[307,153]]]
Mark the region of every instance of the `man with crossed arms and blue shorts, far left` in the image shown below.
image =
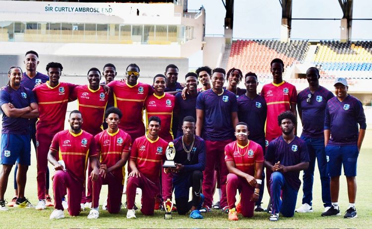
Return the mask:
[[[12,66],[8,71],[8,85],[0,90],[2,111],[0,164],[0,210],[5,206],[4,194],[11,168],[19,165],[16,182],[18,184],[15,207],[33,207],[24,197],[27,170],[31,161],[29,118],[39,116],[38,105],[31,90],[21,86],[22,70]]]

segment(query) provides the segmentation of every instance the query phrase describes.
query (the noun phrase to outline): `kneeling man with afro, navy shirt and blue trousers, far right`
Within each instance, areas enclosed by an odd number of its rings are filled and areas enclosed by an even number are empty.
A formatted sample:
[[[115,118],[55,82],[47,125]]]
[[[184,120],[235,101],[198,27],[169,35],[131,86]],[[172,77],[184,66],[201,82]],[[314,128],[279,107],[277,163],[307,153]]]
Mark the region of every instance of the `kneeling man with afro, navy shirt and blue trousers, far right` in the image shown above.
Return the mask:
[[[265,167],[270,170],[270,221],[279,220],[279,212],[284,217],[295,214],[297,194],[300,189],[300,171],[309,167],[309,153],[306,142],[295,136],[297,118],[286,111],[278,116],[282,135],[269,143],[265,154]]]

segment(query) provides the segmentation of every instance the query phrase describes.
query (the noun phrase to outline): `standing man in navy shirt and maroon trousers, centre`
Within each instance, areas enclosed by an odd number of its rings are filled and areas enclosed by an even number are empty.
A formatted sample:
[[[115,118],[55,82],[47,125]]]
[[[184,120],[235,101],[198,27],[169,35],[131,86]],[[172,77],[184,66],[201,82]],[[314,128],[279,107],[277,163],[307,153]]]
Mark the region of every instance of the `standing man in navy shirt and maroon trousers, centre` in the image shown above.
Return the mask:
[[[221,208],[228,209],[226,178],[229,173],[224,160],[224,149],[234,137],[238,123],[238,104],[234,93],[223,89],[225,70],[213,69],[212,89],[200,93],[196,100],[196,135],[205,140],[206,164],[203,172],[204,208],[209,212],[214,192],[213,174],[218,164],[222,190]],[[218,122],[216,120],[219,120]]]

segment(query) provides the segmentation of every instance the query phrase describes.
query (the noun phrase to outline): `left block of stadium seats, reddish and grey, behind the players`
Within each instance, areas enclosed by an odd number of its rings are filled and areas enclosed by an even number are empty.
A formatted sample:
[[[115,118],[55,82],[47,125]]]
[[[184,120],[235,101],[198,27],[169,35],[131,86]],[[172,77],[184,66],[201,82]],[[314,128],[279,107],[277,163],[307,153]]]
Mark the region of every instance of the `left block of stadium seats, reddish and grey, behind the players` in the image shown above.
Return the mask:
[[[271,77],[273,58],[281,58],[287,68],[302,62],[308,49],[308,41],[238,40],[232,44],[227,69],[235,67],[243,72],[255,72],[260,77]]]

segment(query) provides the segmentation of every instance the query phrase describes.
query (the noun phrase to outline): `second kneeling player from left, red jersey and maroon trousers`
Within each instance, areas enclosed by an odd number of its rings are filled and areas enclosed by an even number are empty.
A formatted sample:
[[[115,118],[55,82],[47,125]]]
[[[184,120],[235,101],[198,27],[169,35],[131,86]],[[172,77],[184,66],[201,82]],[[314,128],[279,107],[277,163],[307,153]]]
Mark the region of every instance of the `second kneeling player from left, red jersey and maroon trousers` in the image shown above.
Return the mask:
[[[120,211],[125,177],[124,165],[129,156],[131,138],[124,130],[119,129],[120,119],[123,113],[118,108],[109,108],[106,113],[108,128],[97,134],[95,142],[97,153],[100,154],[100,175],[93,182],[93,208],[89,212],[88,219],[99,217],[98,201],[102,184],[108,184],[107,211],[117,214]]]

